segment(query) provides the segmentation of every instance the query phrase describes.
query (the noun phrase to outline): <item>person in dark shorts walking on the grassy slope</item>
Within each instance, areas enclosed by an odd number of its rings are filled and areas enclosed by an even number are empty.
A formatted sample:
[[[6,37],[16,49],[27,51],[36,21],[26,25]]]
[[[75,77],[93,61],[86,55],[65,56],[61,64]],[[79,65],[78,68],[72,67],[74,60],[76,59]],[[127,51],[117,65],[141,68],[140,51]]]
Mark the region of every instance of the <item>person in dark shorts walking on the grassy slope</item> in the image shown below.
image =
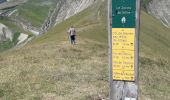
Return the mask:
[[[73,26],[69,28],[68,33],[71,44],[76,44],[76,30]]]

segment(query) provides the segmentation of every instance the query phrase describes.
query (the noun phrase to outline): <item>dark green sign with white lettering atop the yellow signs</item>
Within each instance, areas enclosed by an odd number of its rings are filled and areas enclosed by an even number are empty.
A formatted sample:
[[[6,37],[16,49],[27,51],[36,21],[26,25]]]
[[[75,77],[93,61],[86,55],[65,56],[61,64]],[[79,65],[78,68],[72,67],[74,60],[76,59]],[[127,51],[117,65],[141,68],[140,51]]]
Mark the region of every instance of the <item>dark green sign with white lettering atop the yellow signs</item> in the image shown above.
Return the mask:
[[[136,0],[112,0],[112,28],[135,28]]]

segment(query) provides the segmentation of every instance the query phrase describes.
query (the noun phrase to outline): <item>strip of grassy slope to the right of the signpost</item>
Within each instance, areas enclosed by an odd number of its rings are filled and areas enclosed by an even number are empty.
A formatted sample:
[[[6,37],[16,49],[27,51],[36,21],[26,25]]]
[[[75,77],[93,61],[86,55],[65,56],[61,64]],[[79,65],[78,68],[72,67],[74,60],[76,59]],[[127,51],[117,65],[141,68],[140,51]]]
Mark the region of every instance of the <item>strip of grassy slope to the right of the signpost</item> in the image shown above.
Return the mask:
[[[140,35],[141,100],[170,99],[170,29],[142,12]]]

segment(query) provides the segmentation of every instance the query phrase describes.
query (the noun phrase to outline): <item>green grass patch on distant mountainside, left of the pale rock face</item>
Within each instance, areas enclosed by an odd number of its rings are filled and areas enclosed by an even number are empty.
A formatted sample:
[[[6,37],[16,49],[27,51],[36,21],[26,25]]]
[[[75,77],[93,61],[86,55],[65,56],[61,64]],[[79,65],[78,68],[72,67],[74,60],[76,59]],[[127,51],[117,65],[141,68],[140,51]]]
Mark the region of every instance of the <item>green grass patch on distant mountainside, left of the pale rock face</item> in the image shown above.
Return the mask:
[[[18,7],[19,17],[30,22],[34,27],[41,27],[46,19],[49,9],[54,6],[55,0],[52,5],[41,5],[41,2],[46,0],[28,0],[27,3]]]

